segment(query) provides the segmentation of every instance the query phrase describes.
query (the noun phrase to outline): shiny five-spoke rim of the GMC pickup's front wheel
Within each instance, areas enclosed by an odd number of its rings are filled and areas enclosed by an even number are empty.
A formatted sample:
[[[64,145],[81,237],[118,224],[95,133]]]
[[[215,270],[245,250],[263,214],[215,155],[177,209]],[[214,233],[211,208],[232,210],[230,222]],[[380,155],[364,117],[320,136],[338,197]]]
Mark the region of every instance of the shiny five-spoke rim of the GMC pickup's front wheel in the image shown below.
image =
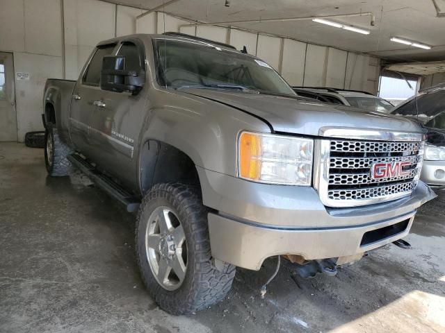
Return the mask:
[[[184,228],[169,207],[157,207],[145,230],[145,253],[156,281],[167,290],[181,287],[187,270]]]

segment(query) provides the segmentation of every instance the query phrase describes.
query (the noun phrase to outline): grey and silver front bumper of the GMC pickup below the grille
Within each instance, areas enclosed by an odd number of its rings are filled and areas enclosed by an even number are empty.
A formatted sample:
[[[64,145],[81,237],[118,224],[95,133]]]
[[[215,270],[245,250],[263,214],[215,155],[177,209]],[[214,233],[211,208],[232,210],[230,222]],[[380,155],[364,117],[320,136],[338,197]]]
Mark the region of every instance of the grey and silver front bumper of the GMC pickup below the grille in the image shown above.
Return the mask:
[[[334,209],[325,207],[312,187],[259,184],[197,170],[204,205],[217,211],[209,214],[213,257],[254,270],[273,255],[301,255],[307,260],[347,257],[389,244],[405,237],[416,208],[435,198],[419,182],[405,198]],[[391,225],[404,228],[364,241],[366,232]]]

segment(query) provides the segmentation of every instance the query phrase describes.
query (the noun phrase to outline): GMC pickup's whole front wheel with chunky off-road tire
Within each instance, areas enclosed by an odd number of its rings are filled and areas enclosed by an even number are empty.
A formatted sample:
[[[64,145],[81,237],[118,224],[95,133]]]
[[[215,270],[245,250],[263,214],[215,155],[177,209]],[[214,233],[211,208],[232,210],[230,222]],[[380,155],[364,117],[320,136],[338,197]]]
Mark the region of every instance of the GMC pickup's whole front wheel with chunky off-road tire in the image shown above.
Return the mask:
[[[136,255],[145,287],[170,314],[189,314],[223,300],[235,267],[211,262],[208,210],[190,185],[159,184],[136,222]]]

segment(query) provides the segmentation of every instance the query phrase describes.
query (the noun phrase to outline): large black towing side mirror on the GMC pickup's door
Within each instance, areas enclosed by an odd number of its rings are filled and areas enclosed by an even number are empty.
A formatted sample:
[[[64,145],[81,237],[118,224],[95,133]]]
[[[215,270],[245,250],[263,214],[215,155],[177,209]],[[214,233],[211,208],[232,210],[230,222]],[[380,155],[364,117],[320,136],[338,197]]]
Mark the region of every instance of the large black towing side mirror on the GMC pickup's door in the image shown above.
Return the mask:
[[[145,71],[126,71],[125,57],[104,56],[100,87],[112,92],[131,92],[136,95],[145,83]]]

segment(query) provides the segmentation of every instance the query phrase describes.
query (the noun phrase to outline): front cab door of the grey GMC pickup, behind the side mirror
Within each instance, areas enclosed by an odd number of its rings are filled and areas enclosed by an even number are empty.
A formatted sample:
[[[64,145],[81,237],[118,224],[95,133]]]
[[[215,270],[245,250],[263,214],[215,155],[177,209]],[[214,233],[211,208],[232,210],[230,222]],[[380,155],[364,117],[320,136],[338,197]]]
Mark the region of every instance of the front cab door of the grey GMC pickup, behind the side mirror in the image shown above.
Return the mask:
[[[145,49],[135,38],[118,45],[117,56],[125,57],[125,71],[145,70]],[[147,111],[145,88],[138,94],[101,89],[93,103],[90,140],[99,167],[119,178],[124,185],[135,181],[136,142]]]

